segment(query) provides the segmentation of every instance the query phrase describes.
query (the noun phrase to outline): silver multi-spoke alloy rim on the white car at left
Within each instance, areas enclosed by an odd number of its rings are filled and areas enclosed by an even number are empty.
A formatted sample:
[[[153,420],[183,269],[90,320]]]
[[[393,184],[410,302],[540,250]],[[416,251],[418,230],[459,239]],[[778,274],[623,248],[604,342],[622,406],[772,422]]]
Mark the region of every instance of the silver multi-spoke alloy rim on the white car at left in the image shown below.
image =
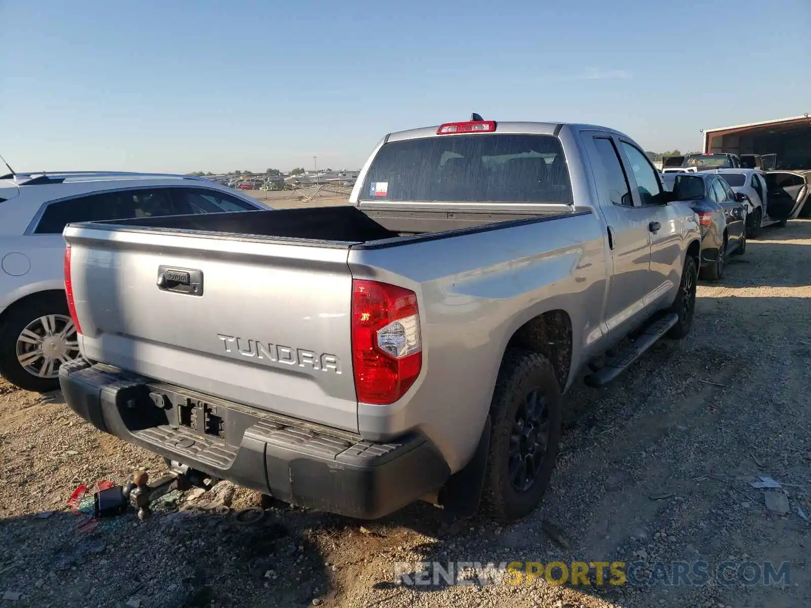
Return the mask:
[[[17,361],[38,378],[58,378],[59,366],[78,356],[76,326],[65,315],[34,319],[17,336]]]

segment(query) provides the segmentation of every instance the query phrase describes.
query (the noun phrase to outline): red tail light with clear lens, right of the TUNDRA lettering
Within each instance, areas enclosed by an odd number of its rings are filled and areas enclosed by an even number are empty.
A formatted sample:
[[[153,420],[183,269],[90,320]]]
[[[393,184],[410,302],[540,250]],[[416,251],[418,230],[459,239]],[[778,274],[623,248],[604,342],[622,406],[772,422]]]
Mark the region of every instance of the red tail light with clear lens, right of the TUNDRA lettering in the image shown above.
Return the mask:
[[[358,401],[385,405],[405,395],[423,366],[416,293],[352,280],[352,363]]]

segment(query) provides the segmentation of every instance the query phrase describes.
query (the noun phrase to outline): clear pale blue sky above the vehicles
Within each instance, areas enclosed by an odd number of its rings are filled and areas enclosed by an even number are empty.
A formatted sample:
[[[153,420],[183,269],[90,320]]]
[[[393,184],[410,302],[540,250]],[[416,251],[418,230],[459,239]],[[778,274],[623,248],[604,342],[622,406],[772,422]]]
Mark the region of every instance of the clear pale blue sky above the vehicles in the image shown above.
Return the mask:
[[[358,168],[389,131],[593,122],[646,149],[811,112],[811,2],[0,0],[16,170]]]

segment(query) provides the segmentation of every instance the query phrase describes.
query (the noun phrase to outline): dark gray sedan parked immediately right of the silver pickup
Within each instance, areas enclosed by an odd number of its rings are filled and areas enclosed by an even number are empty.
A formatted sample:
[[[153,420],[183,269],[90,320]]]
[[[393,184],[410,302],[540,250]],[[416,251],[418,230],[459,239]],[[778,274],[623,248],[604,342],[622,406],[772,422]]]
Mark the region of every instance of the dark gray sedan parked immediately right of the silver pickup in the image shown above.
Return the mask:
[[[689,203],[702,230],[702,278],[719,280],[727,255],[746,250],[746,205],[717,173],[663,175],[674,198]]]

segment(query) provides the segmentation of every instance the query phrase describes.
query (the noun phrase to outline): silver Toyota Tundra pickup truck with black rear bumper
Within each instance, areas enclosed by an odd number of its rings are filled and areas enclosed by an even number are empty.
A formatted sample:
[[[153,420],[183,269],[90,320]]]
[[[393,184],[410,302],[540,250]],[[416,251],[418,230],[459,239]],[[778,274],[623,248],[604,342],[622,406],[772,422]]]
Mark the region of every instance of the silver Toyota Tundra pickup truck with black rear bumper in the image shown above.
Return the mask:
[[[67,225],[67,403],[304,507],[526,516],[580,372],[689,332],[700,232],[627,135],[473,118],[386,135],[346,206]]]

